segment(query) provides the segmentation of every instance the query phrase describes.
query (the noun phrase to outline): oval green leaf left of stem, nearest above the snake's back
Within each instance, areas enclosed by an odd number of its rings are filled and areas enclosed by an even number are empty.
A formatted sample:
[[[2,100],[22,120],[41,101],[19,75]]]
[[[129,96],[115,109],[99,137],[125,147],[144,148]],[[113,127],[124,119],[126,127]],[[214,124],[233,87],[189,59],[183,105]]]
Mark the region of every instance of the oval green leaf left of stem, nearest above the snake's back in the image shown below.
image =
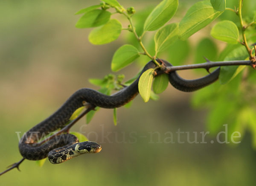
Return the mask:
[[[111,61],[111,70],[118,71],[123,67],[126,67],[139,56],[140,54],[136,47],[130,44],[125,44],[121,46],[119,49],[117,49],[114,53]]]

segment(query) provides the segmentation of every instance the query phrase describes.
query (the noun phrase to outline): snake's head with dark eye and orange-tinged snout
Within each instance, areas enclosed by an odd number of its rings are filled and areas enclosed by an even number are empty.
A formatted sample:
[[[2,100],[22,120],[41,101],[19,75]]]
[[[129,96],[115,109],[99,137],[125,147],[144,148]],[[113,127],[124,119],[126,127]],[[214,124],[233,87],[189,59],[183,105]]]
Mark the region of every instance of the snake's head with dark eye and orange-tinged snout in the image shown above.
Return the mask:
[[[98,153],[102,150],[102,147],[96,142],[80,142],[77,143],[75,150],[80,154]]]

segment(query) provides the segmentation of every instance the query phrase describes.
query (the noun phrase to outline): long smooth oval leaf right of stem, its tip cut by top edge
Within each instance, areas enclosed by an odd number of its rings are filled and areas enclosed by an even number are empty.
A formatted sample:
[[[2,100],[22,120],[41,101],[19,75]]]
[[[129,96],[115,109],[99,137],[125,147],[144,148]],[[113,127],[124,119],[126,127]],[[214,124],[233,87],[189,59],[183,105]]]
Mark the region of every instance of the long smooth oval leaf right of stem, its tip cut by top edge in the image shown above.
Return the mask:
[[[148,15],[144,23],[144,31],[154,31],[167,23],[178,8],[178,0],[163,0]]]

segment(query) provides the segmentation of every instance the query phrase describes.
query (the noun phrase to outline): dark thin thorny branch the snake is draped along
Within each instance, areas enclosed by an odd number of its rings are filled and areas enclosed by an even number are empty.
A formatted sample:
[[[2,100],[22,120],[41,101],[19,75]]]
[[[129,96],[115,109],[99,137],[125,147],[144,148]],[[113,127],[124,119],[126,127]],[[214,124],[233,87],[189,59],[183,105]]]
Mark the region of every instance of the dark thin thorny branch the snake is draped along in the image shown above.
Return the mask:
[[[220,67],[220,66],[234,66],[234,65],[248,65],[251,66],[253,68],[256,67],[256,64],[254,61],[216,61],[216,62],[212,62],[207,60],[207,62],[205,63],[201,63],[201,64],[189,64],[189,65],[181,65],[181,66],[172,66],[172,67],[166,67],[165,72],[169,73],[175,70],[188,70],[188,69],[196,69],[196,68],[204,68],[207,71],[209,71],[210,68],[212,67]],[[39,143],[35,143],[35,146],[39,146],[41,144],[43,144],[44,142],[47,142],[49,139],[54,138],[57,135],[60,135],[62,133],[68,133],[70,128],[79,121],[79,119],[81,119],[83,116],[85,116],[90,110],[94,110],[95,106],[91,105],[91,104],[87,104],[87,109],[84,110],[79,116],[76,117],[76,119],[73,119],[68,125],[66,125],[64,128],[62,128],[60,131],[57,131],[55,134],[53,134],[52,136],[48,137],[47,139],[44,139],[43,141],[39,142]],[[10,165],[8,169],[6,169],[5,171],[1,172],[0,175],[5,174],[6,172],[17,168],[19,171],[19,165],[25,160],[25,158],[22,158],[19,162],[14,163],[12,165]]]

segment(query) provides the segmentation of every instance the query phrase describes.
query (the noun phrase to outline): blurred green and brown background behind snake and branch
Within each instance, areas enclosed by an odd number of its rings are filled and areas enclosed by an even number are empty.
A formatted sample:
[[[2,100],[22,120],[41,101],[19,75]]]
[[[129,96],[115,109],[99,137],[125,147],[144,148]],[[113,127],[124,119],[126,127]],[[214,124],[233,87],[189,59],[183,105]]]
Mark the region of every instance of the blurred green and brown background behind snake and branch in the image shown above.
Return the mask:
[[[79,16],[74,13],[95,2],[0,1],[0,171],[21,159],[16,132],[23,134],[45,119],[77,89],[98,89],[88,82],[89,78],[111,73],[113,52],[125,43],[125,35],[122,33],[111,44],[93,46],[87,40],[90,29],[75,27]],[[119,2],[125,7],[134,6],[139,13],[160,1]],[[174,21],[179,21],[193,2],[180,0]],[[186,63],[196,58],[193,49],[209,30],[207,27],[195,34],[189,45],[184,45],[190,50]],[[223,44],[218,49],[223,49]],[[128,79],[139,67],[133,64],[120,73]],[[196,77],[193,72],[181,74]],[[47,160],[41,168],[35,161],[25,160],[21,172],[12,170],[2,175],[0,185],[254,185],[256,151],[250,133],[238,145],[217,143],[216,135],[207,135],[207,144],[190,144],[182,134],[181,141],[186,142],[177,143],[175,132],[179,129],[189,132],[191,141],[195,138],[193,132],[197,132],[199,142],[200,132],[206,131],[208,110],[193,109],[191,96],[172,86],[160,94],[157,102],[144,103],[137,96],[130,109],[117,110],[117,126],[113,125],[113,110],[101,109],[89,125],[83,118],[71,130],[99,142],[99,154],[85,154],[59,165]],[[169,137],[166,132],[173,133],[175,143],[164,141]]]

